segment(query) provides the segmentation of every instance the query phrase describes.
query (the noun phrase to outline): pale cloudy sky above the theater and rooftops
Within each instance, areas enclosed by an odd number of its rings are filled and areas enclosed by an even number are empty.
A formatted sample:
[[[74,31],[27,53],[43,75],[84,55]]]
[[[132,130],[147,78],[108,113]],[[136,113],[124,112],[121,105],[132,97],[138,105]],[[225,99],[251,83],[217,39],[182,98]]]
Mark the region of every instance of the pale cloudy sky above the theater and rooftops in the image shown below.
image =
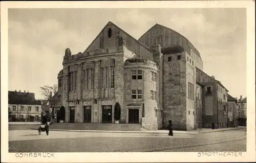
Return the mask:
[[[185,36],[200,52],[204,72],[246,97],[245,8],[9,9],[8,89],[34,92],[57,84],[65,49],[84,52],[112,21],[136,39],[156,23]]]

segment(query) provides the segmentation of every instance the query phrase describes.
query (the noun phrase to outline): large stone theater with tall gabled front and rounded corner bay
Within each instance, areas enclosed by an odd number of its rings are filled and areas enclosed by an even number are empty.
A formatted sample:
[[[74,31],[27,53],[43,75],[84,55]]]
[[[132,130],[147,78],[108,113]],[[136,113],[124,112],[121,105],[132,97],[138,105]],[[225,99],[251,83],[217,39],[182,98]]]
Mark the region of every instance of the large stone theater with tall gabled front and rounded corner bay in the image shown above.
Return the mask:
[[[197,128],[196,66],[203,61],[179,33],[156,24],[139,40],[109,22],[84,52],[68,48],[58,74],[66,123],[141,124],[157,130]],[[60,108],[60,109],[61,109]]]

